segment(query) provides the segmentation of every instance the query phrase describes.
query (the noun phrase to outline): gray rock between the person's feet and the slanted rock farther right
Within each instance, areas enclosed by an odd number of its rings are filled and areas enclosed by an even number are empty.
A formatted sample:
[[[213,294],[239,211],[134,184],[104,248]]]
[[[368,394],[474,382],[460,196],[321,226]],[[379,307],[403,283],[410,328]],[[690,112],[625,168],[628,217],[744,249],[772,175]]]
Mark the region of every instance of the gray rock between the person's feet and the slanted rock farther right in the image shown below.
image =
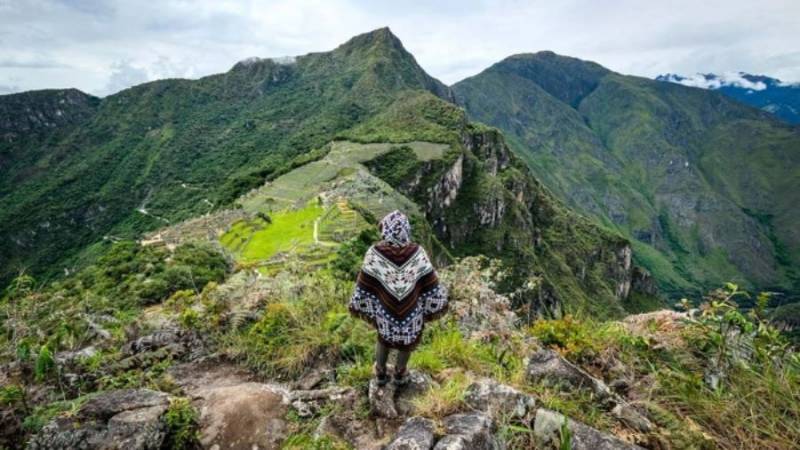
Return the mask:
[[[464,401],[470,408],[483,411],[493,419],[523,419],[536,408],[536,400],[530,395],[488,378],[472,383]]]

